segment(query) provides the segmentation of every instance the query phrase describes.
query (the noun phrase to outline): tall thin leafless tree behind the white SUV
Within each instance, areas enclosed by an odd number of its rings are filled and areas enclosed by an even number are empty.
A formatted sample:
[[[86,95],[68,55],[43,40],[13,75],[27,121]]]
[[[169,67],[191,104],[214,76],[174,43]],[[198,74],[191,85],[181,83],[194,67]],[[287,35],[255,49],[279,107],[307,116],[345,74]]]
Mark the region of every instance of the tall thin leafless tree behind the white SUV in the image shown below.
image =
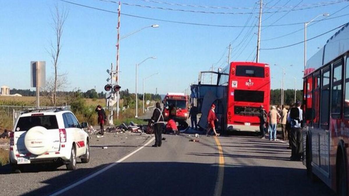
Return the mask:
[[[51,89],[51,100],[52,100],[52,104],[55,106],[57,103],[57,90],[62,87],[62,82],[65,82],[66,77],[64,77],[65,75],[58,75],[58,58],[60,55],[60,51],[61,51],[61,38],[62,38],[62,33],[63,33],[63,26],[64,23],[68,17],[68,10],[66,8],[62,8],[60,9],[58,7],[58,5],[55,5],[55,10],[52,11],[51,10],[51,16],[52,16],[52,20],[53,20],[53,24],[52,24],[52,28],[55,34],[55,42],[53,43],[51,41],[51,50],[50,50],[50,55],[52,58],[52,64],[53,64],[53,68],[54,68],[54,79],[53,79],[53,86]],[[58,77],[62,76],[63,78],[65,78],[64,80],[60,80]],[[47,89],[49,90],[49,89]]]

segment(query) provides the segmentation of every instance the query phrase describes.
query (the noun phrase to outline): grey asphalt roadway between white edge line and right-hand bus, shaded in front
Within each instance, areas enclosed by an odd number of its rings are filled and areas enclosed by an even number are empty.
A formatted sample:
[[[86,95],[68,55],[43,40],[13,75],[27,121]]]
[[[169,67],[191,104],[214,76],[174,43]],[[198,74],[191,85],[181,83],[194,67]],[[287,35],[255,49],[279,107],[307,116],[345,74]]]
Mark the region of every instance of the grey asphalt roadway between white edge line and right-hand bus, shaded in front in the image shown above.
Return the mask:
[[[218,141],[201,136],[200,142],[189,142],[190,135],[165,137],[161,148],[151,142],[62,195],[333,195],[325,184],[306,177],[302,163],[288,160],[287,144],[253,136]],[[71,175],[64,174],[65,179]],[[50,179],[49,186],[61,179]]]

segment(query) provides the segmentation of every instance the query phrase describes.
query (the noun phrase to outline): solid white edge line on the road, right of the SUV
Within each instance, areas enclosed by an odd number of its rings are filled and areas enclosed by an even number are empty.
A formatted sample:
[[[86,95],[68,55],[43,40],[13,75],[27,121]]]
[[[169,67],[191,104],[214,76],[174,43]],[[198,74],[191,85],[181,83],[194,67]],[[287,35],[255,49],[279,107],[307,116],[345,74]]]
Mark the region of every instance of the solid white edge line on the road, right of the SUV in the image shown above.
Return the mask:
[[[59,191],[57,191],[57,192],[51,194],[50,196],[60,195],[60,194],[62,194],[62,193],[64,193],[64,192],[66,192],[67,190],[72,189],[72,188],[78,186],[79,184],[81,184],[81,183],[83,183],[83,182],[86,182],[86,181],[90,180],[91,178],[93,178],[93,177],[95,177],[95,176],[97,176],[97,175],[99,175],[99,174],[101,174],[101,173],[107,171],[108,169],[114,167],[114,166],[117,165],[118,163],[121,163],[121,162],[124,161],[125,159],[131,157],[131,156],[132,156],[133,154],[135,154],[136,152],[142,150],[145,146],[149,145],[149,144],[150,144],[151,142],[153,142],[154,140],[155,140],[155,137],[151,138],[146,144],[142,145],[140,148],[136,149],[135,151],[133,151],[133,152],[127,154],[125,157],[123,157],[123,158],[119,159],[118,161],[116,161],[116,162],[110,164],[109,166],[104,167],[103,169],[101,169],[101,170],[99,170],[99,171],[97,171],[97,172],[95,172],[95,173],[93,173],[93,174],[87,176],[86,178],[83,178],[83,179],[81,179],[81,180],[75,182],[74,184],[70,184],[68,187],[66,187],[66,188],[64,188],[64,189],[61,189],[61,190],[59,190]]]

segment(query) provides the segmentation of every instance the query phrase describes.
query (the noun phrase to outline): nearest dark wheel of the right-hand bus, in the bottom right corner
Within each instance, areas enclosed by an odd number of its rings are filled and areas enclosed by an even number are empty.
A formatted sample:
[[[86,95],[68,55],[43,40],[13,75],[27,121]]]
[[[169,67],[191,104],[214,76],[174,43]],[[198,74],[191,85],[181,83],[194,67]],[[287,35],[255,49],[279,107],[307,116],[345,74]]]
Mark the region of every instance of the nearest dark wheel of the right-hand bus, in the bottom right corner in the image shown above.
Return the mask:
[[[341,153],[339,159],[337,159],[337,195],[348,195],[348,179],[347,179],[347,167],[346,161]]]

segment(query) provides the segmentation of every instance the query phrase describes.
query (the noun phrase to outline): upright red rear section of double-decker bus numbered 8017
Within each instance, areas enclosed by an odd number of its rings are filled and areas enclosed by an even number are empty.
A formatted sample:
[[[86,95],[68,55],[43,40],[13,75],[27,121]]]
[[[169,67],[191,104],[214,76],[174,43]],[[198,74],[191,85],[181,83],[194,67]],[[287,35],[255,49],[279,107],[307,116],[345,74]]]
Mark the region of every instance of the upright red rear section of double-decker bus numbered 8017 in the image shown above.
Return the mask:
[[[270,69],[265,63],[231,62],[222,70],[227,84],[227,129],[259,131],[260,106],[269,111]]]

